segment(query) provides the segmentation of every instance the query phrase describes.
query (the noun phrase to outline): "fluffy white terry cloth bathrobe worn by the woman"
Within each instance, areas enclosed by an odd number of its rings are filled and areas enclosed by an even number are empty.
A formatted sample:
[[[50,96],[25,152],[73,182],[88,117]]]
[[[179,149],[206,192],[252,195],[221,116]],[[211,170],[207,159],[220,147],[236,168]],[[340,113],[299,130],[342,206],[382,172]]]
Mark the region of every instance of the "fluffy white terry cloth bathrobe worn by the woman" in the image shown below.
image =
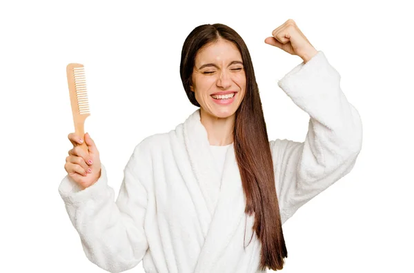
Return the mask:
[[[303,143],[269,142],[282,223],[350,172],[361,149],[362,123],[339,80],[319,51],[278,82],[310,116]],[[64,177],[59,193],[88,259],[109,272],[141,260],[145,272],[260,272],[261,244],[254,215],[244,214],[233,145],[221,177],[209,145],[197,109],[175,130],[135,146],[116,201],[103,164],[85,190]]]

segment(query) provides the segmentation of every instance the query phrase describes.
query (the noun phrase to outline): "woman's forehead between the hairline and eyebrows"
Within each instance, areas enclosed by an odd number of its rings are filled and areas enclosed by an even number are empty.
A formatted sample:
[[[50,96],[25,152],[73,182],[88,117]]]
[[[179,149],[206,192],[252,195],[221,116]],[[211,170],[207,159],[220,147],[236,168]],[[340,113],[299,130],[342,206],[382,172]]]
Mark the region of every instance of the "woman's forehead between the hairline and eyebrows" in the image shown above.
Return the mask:
[[[205,48],[200,50],[195,57],[196,64],[202,64],[206,62],[219,62],[219,61],[242,61],[242,55],[239,52],[237,46],[227,40],[219,39],[215,43],[206,45]]]

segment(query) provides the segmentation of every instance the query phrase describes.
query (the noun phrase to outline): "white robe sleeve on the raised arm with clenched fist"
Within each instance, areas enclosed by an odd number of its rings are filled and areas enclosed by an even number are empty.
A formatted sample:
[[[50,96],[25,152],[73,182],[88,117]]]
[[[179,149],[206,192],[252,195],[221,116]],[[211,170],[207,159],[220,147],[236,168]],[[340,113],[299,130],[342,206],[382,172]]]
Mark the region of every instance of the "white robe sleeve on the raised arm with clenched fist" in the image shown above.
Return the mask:
[[[310,117],[304,142],[270,141],[282,223],[355,165],[362,147],[362,121],[339,82],[339,73],[322,51],[278,82]]]

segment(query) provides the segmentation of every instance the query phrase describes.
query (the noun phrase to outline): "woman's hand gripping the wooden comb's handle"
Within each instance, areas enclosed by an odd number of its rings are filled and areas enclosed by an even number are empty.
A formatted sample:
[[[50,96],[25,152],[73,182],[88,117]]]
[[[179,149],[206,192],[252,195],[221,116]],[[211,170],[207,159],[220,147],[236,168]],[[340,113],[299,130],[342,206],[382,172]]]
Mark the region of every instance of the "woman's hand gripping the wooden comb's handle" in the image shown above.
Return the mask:
[[[86,145],[89,152],[85,152],[81,147],[81,136],[75,133],[68,134],[68,139],[73,145],[66,157],[65,170],[68,175],[83,189],[98,181],[101,176],[101,160],[95,142],[88,133],[85,134]]]

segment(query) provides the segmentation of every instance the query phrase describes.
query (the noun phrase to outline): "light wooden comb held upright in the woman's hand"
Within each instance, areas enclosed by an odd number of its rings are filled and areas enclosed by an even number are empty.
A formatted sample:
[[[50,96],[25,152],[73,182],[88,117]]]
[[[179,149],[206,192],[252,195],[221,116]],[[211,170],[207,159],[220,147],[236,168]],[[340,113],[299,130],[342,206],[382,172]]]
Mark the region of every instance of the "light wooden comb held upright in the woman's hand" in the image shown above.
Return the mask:
[[[84,139],[85,120],[90,116],[85,69],[80,63],[69,63],[66,66],[66,74],[68,75],[70,105],[72,105],[75,134]],[[88,145],[86,145],[85,141],[81,144],[81,148],[88,152]]]

